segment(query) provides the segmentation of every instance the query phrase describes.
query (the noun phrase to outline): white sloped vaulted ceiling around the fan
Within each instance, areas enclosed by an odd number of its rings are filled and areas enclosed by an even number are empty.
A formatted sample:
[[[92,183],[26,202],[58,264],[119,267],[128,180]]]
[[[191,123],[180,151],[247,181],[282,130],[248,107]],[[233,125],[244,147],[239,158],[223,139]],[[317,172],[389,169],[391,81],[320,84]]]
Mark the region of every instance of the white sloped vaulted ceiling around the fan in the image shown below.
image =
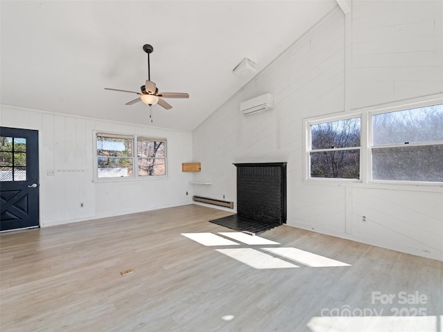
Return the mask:
[[[327,14],[336,0],[1,1],[3,105],[193,130],[251,77],[233,68],[244,57],[262,70]],[[147,79],[172,109],[141,102]]]

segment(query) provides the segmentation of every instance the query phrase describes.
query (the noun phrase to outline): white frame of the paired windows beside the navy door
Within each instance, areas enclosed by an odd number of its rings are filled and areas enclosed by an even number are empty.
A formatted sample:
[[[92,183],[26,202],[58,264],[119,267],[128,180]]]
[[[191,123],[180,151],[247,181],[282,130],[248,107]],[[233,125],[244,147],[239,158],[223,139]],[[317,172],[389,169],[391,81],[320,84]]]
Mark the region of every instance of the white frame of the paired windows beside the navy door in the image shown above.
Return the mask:
[[[124,177],[109,177],[109,178],[99,178],[98,177],[98,149],[97,142],[98,136],[105,136],[110,138],[123,138],[123,139],[131,139],[132,140],[132,156],[131,157],[122,157],[122,158],[131,158],[132,159],[132,176],[124,176]],[[139,158],[146,159],[145,157],[138,157],[138,138],[143,140],[152,140],[155,142],[163,142],[165,145],[165,156],[159,159],[165,160],[165,174],[164,175],[147,175],[147,176],[139,176],[138,175],[138,160]],[[102,183],[102,182],[125,182],[125,181],[150,181],[154,179],[164,179],[168,178],[168,139],[167,138],[159,138],[153,136],[146,135],[127,135],[123,133],[111,133],[105,131],[93,131],[93,182],[94,183]]]

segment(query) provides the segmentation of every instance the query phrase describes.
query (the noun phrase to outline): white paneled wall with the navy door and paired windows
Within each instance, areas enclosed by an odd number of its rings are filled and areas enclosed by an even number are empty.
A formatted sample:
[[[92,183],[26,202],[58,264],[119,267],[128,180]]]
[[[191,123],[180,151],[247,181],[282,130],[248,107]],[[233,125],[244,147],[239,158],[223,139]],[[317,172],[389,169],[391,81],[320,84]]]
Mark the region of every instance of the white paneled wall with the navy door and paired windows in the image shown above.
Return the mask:
[[[135,126],[3,106],[3,127],[39,131],[39,207],[42,227],[192,203],[192,158],[188,131]],[[93,131],[138,134],[168,140],[168,177],[93,182]],[[54,169],[55,176],[47,176]],[[186,196],[186,192],[189,192]],[[80,208],[80,202],[84,208]]]

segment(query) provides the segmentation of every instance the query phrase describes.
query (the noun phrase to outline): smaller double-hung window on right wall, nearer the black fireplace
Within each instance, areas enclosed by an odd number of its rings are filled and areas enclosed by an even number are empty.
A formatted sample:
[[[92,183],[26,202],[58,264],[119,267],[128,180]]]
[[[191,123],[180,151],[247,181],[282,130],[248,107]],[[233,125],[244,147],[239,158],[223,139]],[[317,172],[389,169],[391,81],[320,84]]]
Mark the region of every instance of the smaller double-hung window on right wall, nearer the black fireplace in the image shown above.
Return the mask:
[[[354,178],[360,174],[360,118],[310,125],[311,178]]]

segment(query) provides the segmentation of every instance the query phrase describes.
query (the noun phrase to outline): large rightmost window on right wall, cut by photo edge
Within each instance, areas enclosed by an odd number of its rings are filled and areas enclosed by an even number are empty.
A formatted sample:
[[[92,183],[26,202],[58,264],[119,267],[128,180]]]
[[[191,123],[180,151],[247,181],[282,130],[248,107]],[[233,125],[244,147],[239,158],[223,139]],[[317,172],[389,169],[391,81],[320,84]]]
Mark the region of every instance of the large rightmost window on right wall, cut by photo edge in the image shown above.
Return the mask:
[[[443,182],[443,104],[372,115],[372,179]]]

